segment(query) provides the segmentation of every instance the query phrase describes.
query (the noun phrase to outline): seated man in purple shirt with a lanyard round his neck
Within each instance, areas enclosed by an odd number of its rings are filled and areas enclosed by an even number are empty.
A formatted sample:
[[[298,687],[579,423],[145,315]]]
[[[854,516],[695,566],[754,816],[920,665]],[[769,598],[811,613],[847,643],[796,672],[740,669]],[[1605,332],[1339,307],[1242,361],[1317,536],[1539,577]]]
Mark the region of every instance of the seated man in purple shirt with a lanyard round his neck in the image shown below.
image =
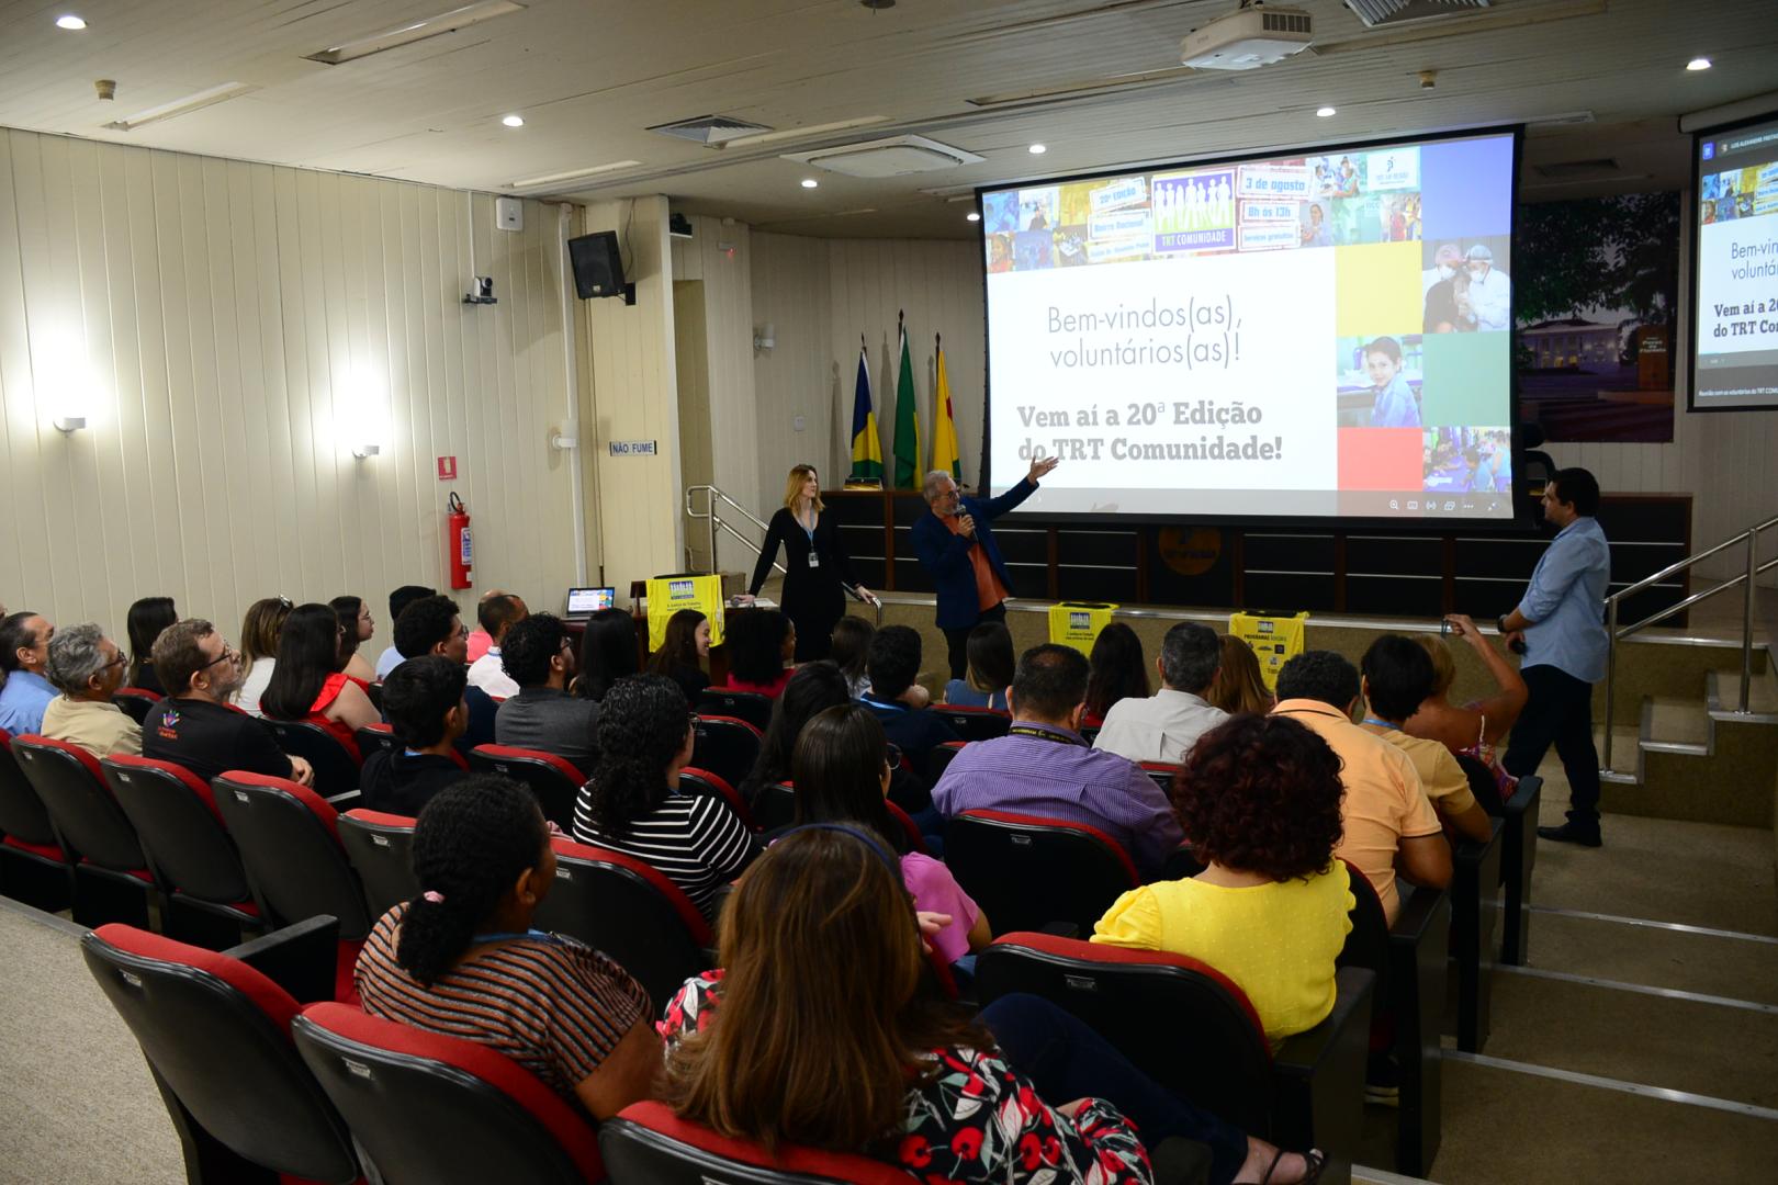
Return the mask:
[[[964,748],[932,787],[932,805],[1012,810],[1095,826],[1129,851],[1143,878],[1161,871],[1184,833],[1149,775],[1081,739],[1086,656],[1045,643],[1019,657],[1012,680],[1012,734]]]

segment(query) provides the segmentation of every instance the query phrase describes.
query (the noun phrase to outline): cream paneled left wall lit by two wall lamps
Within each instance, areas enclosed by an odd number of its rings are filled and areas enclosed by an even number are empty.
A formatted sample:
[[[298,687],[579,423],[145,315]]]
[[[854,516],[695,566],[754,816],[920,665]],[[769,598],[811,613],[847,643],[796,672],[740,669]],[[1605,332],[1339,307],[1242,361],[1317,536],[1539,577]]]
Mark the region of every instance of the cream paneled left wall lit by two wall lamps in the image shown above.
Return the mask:
[[[473,272],[500,304],[462,304]],[[117,634],[153,593],[231,636],[274,593],[382,618],[444,583],[455,489],[477,586],[553,602],[564,300],[537,203],[503,233],[489,195],[0,128],[0,600]]]

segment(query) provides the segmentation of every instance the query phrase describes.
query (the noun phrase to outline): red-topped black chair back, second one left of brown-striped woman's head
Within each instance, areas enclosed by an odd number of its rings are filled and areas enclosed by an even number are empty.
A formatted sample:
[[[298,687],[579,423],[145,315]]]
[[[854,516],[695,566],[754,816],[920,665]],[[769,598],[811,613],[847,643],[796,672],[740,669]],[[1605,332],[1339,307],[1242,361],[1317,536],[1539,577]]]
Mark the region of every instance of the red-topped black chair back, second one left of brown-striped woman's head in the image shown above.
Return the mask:
[[[341,942],[370,933],[375,917],[340,842],[340,815],[320,794],[244,771],[224,773],[212,785],[270,924],[327,913],[340,919]]]

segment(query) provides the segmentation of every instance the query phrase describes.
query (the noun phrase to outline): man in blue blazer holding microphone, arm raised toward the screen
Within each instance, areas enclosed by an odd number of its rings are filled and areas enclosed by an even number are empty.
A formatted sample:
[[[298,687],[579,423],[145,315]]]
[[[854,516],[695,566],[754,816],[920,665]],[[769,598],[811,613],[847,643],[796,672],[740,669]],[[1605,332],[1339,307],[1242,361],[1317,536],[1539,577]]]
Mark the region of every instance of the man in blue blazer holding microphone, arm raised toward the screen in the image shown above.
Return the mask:
[[[994,499],[965,497],[944,469],[926,474],[923,492],[932,513],[914,522],[914,553],[939,590],[939,629],[951,652],[951,679],[967,672],[969,631],[1006,620],[1006,565],[990,524],[1037,492],[1038,480],[1058,460],[1033,460],[1024,481]]]

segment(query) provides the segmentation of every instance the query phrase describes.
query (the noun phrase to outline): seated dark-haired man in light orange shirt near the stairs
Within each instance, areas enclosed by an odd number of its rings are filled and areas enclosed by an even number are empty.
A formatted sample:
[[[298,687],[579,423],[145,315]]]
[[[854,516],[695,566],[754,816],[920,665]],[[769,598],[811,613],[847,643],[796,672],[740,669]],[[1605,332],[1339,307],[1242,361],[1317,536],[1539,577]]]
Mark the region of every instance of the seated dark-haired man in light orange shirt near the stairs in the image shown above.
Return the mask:
[[[1357,705],[1358,670],[1332,650],[1305,650],[1278,672],[1271,711],[1307,725],[1339,755],[1344,835],[1334,855],[1369,878],[1394,924],[1401,906],[1396,867],[1417,885],[1444,888],[1451,883],[1451,846],[1414,762],[1351,723]]]

